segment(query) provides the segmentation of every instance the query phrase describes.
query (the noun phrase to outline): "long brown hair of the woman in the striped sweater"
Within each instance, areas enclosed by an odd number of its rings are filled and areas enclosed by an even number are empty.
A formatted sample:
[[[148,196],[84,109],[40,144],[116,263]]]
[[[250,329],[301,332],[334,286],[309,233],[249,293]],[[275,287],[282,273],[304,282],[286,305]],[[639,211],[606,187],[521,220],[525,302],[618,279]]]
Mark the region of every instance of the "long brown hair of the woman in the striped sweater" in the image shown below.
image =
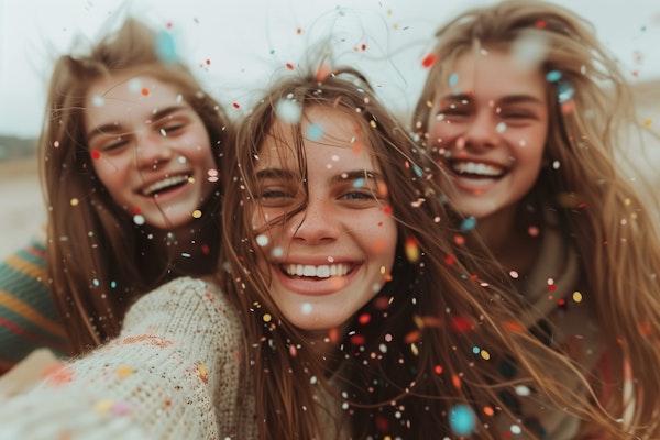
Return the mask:
[[[177,275],[217,268],[217,216],[187,226],[204,252],[176,261],[177,238],[155,240],[145,227],[135,224],[131,212],[111,200],[91,165],[84,130],[87,89],[96,79],[128,68],[139,68],[179,90],[201,118],[220,165],[230,121],[187,67],[158,56],[157,38],[156,32],[128,18],[87,55],[59,57],[50,82],[38,140],[48,207],[47,267],[72,354],[118,334],[127,307],[139,294]],[[220,195],[219,184],[204,212],[218,211]]]

